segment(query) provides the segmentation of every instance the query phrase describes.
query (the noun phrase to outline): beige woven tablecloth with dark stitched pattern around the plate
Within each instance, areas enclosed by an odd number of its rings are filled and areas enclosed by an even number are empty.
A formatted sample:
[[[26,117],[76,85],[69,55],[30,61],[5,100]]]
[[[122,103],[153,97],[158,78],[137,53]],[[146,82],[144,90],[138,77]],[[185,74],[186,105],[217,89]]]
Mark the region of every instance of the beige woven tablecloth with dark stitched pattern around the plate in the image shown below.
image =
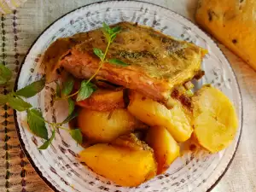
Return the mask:
[[[144,0],[172,9],[194,21],[196,0]],[[10,15],[0,15],[0,62],[14,71],[13,82],[20,63],[38,35],[54,20],[87,3],[97,0],[28,0]],[[256,191],[256,73],[243,61],[220,45],[230,60],[241,87],[243,99],[243,130],[236,157],[214,192]],[[10,87],[1,87],[6,94]],[[51,191],[33,171],[20,150],[13,113],[0,107],[0,192]]]

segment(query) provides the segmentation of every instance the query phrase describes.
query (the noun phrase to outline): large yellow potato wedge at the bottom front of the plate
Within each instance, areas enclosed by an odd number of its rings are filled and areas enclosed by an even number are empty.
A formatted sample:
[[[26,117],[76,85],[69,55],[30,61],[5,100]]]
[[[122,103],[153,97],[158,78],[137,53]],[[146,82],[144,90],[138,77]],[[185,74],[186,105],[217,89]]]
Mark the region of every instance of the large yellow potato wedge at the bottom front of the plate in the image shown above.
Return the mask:
[[[80,160],[94,172],[125,187],[135,187],[155,176],[154,154],[109,144],[96,144],[80,153]]]

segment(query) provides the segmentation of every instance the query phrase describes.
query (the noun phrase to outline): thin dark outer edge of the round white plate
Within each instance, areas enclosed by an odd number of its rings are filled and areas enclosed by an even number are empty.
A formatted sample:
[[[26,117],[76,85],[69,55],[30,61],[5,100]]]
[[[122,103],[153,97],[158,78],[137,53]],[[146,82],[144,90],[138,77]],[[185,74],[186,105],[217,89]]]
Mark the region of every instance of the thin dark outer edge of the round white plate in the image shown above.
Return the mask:
[[[223,51],[219,48],[218,44],[216,44],[212,38],[207,34],[207,32],[204,32],[203,30],[201,30],[201,27],[199,26],[196,26],[195,23],[193,23],[191,20],[185,18],[183,15],[179,15],[177,14],[176,11],[173,11],[172,9],[168,9],[166,7],[163,7],[163,6],[160,6],[158,4],[154,4],[154,3],[149,3],[149,2],[143,2],[143,1],[140,1],[140,0],[110,0],[110,1],[100,1],[100,2],[96,2],[96,3],[89,3],[89,4],[85,4],[83,6],[80,6],[79,8],[77,9],[73,9],[69,12],[67,12],[67,14],[65,15],[61,15],[61,17],[57,18],[56,20],[54,20],[51,24],[49,24],[49,26],[47,26],[43,32],[41,32],[39,35],[38,35],[38,38],[40,38],[44,32],[46,32],[50,26],[53,26],[55,24],[55,22],[57,22],[58,20],[61,20],[63,17],[65,17],[66,15],[69,15],[73,12],[75,12],[76,10],[78,9],[83,9],[85,7],[89,7],[90,5],[94,5],[94,4],[101,4],[101,3],[111,3],[111,2],[127,2],[127,3],[131,3],[131,2],[134,2],[134,3],[146,3],[146,4],[151,4],[151,5],[154,5],[154,6],[157,6],[157,7],[160,7],[162,9],[166,9],[166,10],[169,10],[171,11],[172,13],[174,13],[175,15],[183,18],[184,20],[187,20],[189,21],[190,24],[192,24],[195,28],[199,29],[207,38],[209,38],[212,42],[212,44],[215,44],[216,47],[218,48],[218,50],[224,55]],[[24,57],[23,61],[21,62],[20,64],[20,68],[19,68],[19,72],[17,73],[17,77],[15,79],[15,86],[14,86],[14,90],[17,90],[18,88],[18,82],[19,82],[19,79],[20,79],[20,72],[21,72],[21,69],[22,67],[24,66],[24,63],[26,61],[26,57],[27,55],[30,53],[32,47],[34,46],[34,44],[37,43],[38,41],[38,38],[36,38],[32,45],[30,46],[30,48],[26,51],[26,56]],[[224,59],[229,63],[230,65],[230,61],[227,59],[226,55],[224,55]],[[216,179],[216,181],[214,183],[212,183],[209,187],[207,187],[207,192],[211,191],[218,183],[219,181],[222,179],[222,177],[224,177],[225,173],[229,170],[230,168],[230,165],[232,163],[232,161],[234,160],[235,156],[236,156],[236,151],[237,151],[237,148],[239,147],[239,143],[240,143],[240,140],[241,140],[241,133],[242,133],[242,128],[243,128],[243,102],[242,102],[242,97],[241,97],[241,89],[240,89],[240,85],[238,83],[238,80],[236,78],[236,73],[234,72],[234,69],[233,67],[231,67],[230,65],[230,69],[231,69],[231,72],[233,73],[235,79],[236,79],[236,85],[237,85],[237,88],[238,88],[238,91],[239,91],[239,99],[241,101],[241,122],[240,122],[240,127],[241,127],[241,130],[240,130],[240,135],[238,136],[238,139],[237,139],[237,143],[236,143],[236,148],[235,148],[235,151],[234,153],[232,154],[232,157],[230,158],[230,161],[229,163],[227,164],[227,166],[225,167],[225,169],[220,173],[219,177]],[[28,153],[27,149],[26,149],[26,146],[25,146],[25,143],[23,142],[22,138],[21,138],[21,134],[20,134],[20,127],[19,127],[19,124],[18,124],[18,119],[17,119],[17,112],[16,110],[13,110],[14,111],[14,119],[15,119],[15,127],[16,127],[16,131],[17,131],[17,135],[18,135],[18,138],[19,138],[19,141],[20,141],[20,146],[23,150],[23,152],[26,154],[26,158],[29,160],[29,162],[32,164],[32,167],[33,169],[38,173],[39,177],[41,177],[43,180],[44,180],[44,183],[46,183],[50,189],[53,189],[54,191],[56,192],[61,192],[59,189],[56,189],[56,187],[49,182],[49,180],[47,179],[47,177],[44,177],[44,175],[42,174],[42,172],[39,170],[38,166],[35,165],[35,163],[33,162],[32,160],[32,157],[31,155]]]

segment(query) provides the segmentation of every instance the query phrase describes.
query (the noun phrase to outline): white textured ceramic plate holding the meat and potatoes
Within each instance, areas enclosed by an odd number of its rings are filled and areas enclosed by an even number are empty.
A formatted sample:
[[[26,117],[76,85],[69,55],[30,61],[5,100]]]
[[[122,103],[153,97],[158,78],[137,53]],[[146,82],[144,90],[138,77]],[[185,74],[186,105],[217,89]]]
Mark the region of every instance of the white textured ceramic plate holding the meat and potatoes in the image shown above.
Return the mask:
[[[96,29],[102,26],[103,21],[113,24],[123,20],[152,26],[175,38],[208,49],[209,54],[202,64],[206,72],[202,83],[210,83],[230,97],[236,106],[240,122],[236,138],[230,147],[218,154],[202,150],[185,153],[165,174],[154,177],[137,188],[122,188],[80,164],[76,157],[82,148],[65,131],[56,134],[47,150],[38,151],[37,148],[43,141],[28,131],[26,112],[15,113],[20,143],[38,174],[57,191],[207,191],[224,174],[236,152],[242,124],[241,94],[235,74],[218,46],[197,26],[171,10],[133,1],[95,3],[74,10],[56,20],[32,45],[20,70],[16,88],[20,89],[41,78],[44,73],[40,69],[41,55],[55,39]],[[49,121],[61,121],[67,116],[67,105],[65,102],[51,102],[54,89],[54,85],[49,84],[40,94],[27,101],[35,108],[40,108]],[[48,130],[50,135],[49,127]]]

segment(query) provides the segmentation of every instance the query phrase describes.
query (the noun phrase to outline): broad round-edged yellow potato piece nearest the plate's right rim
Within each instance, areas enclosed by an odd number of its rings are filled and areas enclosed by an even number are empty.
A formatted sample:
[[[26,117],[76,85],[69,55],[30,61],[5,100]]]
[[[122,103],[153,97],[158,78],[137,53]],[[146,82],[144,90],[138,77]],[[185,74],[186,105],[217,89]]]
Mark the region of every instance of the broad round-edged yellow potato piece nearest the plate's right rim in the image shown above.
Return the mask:
[[[192,102],[195,137],[201,146],[212,153],[228,147],[238,126],[236,110],[229,98],[207,85],[195,93]]]

